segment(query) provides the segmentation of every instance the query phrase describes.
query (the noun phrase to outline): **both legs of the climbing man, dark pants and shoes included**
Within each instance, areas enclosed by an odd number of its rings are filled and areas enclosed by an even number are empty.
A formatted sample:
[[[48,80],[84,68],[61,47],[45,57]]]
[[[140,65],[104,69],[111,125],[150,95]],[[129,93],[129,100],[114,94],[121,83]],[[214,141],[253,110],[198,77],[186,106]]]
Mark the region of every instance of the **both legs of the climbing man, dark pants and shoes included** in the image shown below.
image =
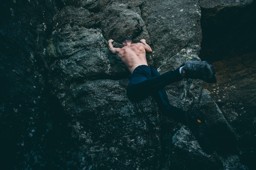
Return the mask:
[[[190,125],[190,128],[193,129],[193,133],[196,134],[195,137],[198,141],[200,141],[200,145],[208,150],[210,145],[205,133],[208,133],[209,130],[208,125],[205,124],[201,119],[201,113],[198,111],[190,112],[190,110],[185,113],[179,108],[170,105],[164,87],[170,83],[179,81],[182,78],[195,78],[204,80],[208,83],[214,83],[217,80],[213,67],[207,62],[199,62],[198,59],[193,58],[182,65],[180,69],[181,73],[179,72],[179,69],[176,69],[174,71],[168,71],[163,75],[158,75],[158,73],[157,76],[152,77],[152,72],[149,70],[150,67],[144,68],[146,68],[145,72],[143,71],[144,69],[142,67],[141,71],[138,71],[136,74],[132,74],[130,82],[127,86],[128,98],[131,101],[138,102],[147,98],[151,92],[151,95],[153,95],[156,99],[159,109],[165,115],[168,115],[169,113],[171,118],[185,125]],[[185,115],[186,120],[184,119]],[[192,119],[190,119],[190,117],[192,117]],[[198,123],[199,126],[197,125]]]

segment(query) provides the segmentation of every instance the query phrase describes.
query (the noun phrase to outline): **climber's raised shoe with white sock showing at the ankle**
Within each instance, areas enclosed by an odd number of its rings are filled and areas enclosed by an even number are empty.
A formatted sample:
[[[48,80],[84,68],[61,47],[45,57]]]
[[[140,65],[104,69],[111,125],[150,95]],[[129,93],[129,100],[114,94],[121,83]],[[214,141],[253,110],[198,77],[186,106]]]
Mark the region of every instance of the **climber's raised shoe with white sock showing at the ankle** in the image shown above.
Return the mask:
[[[207,61],[199,61],[197,58],[192,58],[183,63],[180,67],[182,67],[182,78],[201,79],[207,83],[217,82],[214,68]]]

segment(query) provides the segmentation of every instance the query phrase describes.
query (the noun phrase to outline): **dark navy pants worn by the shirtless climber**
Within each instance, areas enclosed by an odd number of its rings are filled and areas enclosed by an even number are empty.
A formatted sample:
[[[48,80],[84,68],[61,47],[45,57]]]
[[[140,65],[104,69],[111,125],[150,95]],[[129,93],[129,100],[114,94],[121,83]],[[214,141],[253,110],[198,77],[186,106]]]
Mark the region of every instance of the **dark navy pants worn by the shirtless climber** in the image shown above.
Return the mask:
[[[182,80],[179,69],[159,75],[155,68],[141,65],[135,68],[129,79],[126,93],[130,101],[139,102],[151,95],[164,115],[184,123],[185,111],[171,105],[165,91],[168,84]]]

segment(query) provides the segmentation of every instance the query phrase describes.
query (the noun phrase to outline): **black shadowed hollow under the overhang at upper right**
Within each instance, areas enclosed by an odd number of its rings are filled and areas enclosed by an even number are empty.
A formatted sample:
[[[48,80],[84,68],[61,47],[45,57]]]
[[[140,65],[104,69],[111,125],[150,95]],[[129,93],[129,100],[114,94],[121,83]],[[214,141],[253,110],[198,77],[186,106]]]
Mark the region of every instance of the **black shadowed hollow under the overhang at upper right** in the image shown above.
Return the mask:
[[[202,8],[202,42],[199,57],[216,62],[231,54],[245,54],[256,50],[256,2],[245,8],[222,9],[215,16],[205,16]]]

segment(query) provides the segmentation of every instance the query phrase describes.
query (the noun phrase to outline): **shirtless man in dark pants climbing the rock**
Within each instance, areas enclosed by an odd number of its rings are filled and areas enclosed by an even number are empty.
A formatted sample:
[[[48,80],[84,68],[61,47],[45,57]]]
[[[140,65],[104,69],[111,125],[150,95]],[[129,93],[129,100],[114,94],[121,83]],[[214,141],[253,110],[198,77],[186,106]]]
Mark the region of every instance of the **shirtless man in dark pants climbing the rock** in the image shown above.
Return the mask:
[[[183,78],[201,79],[208,83],[215,83],[216,75],[212,65],[206,61],[199,61],[197,58],[193,58],[183,63],[176,70],[160,75],[155,68],[147,64],[146,52],[152,53],[152,49],[145,39],[141,39],[140,43],[133,43],[131,37],[124,37],[122,48],[113,47],[114,40],[112,39],[108,42],[109,50],[118,55],[131,72],[130,81],[126,89],[128,99],[132,102],[139,102],[151,95],[155,99],[159,110],[165,116],[187,125],[194,133],[201,147],[203,149],[206,148],[209,143],[205,133],[209,132],[209,128],[202,113],[196,108],[183,111],[171,105],[165,86]]]

